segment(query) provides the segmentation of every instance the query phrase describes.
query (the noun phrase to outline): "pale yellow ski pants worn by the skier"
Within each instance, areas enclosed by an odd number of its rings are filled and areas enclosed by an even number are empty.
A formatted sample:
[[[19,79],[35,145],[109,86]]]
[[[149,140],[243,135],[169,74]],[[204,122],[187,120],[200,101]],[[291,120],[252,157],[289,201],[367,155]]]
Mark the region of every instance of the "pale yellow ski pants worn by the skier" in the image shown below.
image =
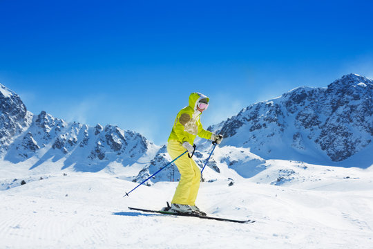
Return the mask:
[[[180,142],[169,140],[167,152],[172,159],[177,158],[184,151],[186,149],[182,147]],[[174,163],[178,167],[181,177],[171,203],[195,205],[195,199],[197,199],[198,189],[200,188],[200,169],[195,161],[189,158],[188,153],[175,160]]]

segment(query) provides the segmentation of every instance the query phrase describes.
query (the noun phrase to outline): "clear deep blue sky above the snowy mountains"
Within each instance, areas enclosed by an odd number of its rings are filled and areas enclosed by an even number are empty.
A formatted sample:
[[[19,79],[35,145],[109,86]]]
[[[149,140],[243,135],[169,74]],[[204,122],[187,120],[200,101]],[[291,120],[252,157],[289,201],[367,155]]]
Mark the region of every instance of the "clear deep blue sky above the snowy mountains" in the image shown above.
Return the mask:
[[[0,83],[57,118],[166,142],[189,94],[208,127],[297,86],[373,77],[373,1],[0,0]]]

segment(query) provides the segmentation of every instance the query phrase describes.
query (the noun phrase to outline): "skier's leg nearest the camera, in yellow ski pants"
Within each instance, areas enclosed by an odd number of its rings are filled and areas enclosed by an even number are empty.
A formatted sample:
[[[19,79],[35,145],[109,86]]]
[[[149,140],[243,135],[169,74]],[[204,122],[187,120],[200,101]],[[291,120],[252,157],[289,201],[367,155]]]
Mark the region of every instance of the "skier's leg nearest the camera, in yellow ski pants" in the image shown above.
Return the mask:
[[[167,152],[171,158],[177,158],[185,151],[184,147],[180,145],[180,142],[170,140],[167,145]],[[184,154],[178,160],[175,160],[175,165],[178,167],[180,172],[180,181],[176,188],[175,194],[171,203],[188,205],[188,199],[191,192],[191,185],[193,184],[194,170],[191,163],[191,158],[188,154]]]

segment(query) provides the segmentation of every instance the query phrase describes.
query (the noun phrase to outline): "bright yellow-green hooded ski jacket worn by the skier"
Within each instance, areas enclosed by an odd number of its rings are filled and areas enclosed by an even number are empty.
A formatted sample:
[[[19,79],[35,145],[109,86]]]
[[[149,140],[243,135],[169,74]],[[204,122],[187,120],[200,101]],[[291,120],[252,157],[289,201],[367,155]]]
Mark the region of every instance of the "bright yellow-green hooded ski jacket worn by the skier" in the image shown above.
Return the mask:
[[[196,136],[206,139],[211,138],[212,133],[203,129],[200,121],[201,112],[197,110],[197,104],[202,99],[207,99],[207,102],[210,100],[202,93],[191,93],[189,95],[189,106],[181,109],[176,116],[169,140],[177,140],[181,143],[189,142],[193,145]]]

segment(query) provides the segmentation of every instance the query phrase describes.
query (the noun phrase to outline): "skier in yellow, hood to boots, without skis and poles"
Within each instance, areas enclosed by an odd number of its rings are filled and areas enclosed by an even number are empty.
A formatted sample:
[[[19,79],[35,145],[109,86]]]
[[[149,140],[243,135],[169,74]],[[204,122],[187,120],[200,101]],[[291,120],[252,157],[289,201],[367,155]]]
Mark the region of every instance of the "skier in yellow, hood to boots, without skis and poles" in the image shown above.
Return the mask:
[[[180,172],[180,181],[171,201],[169,212],[193,213],[206,215],[196,205],[198,190],[200,188],[200,169],[193,160],[196,136],[212,140],[220,144],[222,135],[216,135],[211,131],[203,129],[200,115],[209,107],[209,98],[202,93],[191,93],[189,105],[179,111],[168,139],[167,152],[172,159],[177,158],[185,149],[189,153],[184,154],[175,165]]]

